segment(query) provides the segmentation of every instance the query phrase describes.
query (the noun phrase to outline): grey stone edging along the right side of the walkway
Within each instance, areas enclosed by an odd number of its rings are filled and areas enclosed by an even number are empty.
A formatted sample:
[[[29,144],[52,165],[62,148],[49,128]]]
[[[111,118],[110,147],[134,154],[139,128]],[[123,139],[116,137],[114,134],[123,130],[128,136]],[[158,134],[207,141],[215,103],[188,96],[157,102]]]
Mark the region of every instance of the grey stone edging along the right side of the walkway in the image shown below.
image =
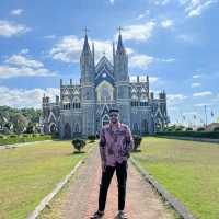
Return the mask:
[[[192,212],[173,195],[171,195],[162,185],[160,185],[147,171],[137,163],[137,161],[131,157],[131,163],[136,166],[143,178],[152,185],[153,188],[183,217],[184,219],[196,219]]]

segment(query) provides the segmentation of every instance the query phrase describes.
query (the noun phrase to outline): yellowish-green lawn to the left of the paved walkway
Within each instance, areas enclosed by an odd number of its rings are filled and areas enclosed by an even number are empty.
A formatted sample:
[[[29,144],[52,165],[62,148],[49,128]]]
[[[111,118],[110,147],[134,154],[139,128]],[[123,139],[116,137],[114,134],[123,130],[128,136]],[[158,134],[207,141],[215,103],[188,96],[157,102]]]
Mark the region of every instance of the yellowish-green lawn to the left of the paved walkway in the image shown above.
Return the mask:
[[[73,153],[70,141],[0,150],[0,218],[25,218],[87,154]]]

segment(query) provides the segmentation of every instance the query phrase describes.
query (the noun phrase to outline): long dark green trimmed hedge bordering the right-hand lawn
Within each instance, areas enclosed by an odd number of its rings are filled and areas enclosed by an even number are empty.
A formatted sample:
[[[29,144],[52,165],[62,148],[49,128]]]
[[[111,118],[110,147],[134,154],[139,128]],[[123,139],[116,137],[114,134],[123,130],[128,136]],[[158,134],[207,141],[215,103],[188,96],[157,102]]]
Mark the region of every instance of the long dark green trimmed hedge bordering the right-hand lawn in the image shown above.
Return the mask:
[[[219,139],[219,131],[159,131],[155,135]]]

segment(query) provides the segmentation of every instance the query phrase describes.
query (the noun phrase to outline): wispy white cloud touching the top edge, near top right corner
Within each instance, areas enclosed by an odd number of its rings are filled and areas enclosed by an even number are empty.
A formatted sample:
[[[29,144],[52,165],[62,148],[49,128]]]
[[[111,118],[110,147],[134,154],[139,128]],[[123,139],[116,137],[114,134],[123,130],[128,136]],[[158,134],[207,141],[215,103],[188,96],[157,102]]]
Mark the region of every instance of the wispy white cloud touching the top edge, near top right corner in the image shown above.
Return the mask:
[[[211,4],[218,3],[218,0],[180,0],[180,3],[187,16],[192,18],[201,15]]]

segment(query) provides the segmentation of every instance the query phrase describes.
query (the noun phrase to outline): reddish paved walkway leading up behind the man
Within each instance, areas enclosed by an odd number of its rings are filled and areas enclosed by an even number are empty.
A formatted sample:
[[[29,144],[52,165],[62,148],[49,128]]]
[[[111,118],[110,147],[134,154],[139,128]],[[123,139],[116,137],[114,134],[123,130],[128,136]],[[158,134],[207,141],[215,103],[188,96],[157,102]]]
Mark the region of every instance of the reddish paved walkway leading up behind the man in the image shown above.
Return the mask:
[[[114,174],[107,195],[104,219],[114,219],[117,214],[117,182]],[[97,148],[78,170],[61,197],[51,205],[51,215],[43,218],[89,219],[97,208],[101,182],[101,163]],[[173,219],[158,194],[147,184],[132,164],[128,163],[126,208],[130,219]],[[42,218],[42,217],[41,217]]]

